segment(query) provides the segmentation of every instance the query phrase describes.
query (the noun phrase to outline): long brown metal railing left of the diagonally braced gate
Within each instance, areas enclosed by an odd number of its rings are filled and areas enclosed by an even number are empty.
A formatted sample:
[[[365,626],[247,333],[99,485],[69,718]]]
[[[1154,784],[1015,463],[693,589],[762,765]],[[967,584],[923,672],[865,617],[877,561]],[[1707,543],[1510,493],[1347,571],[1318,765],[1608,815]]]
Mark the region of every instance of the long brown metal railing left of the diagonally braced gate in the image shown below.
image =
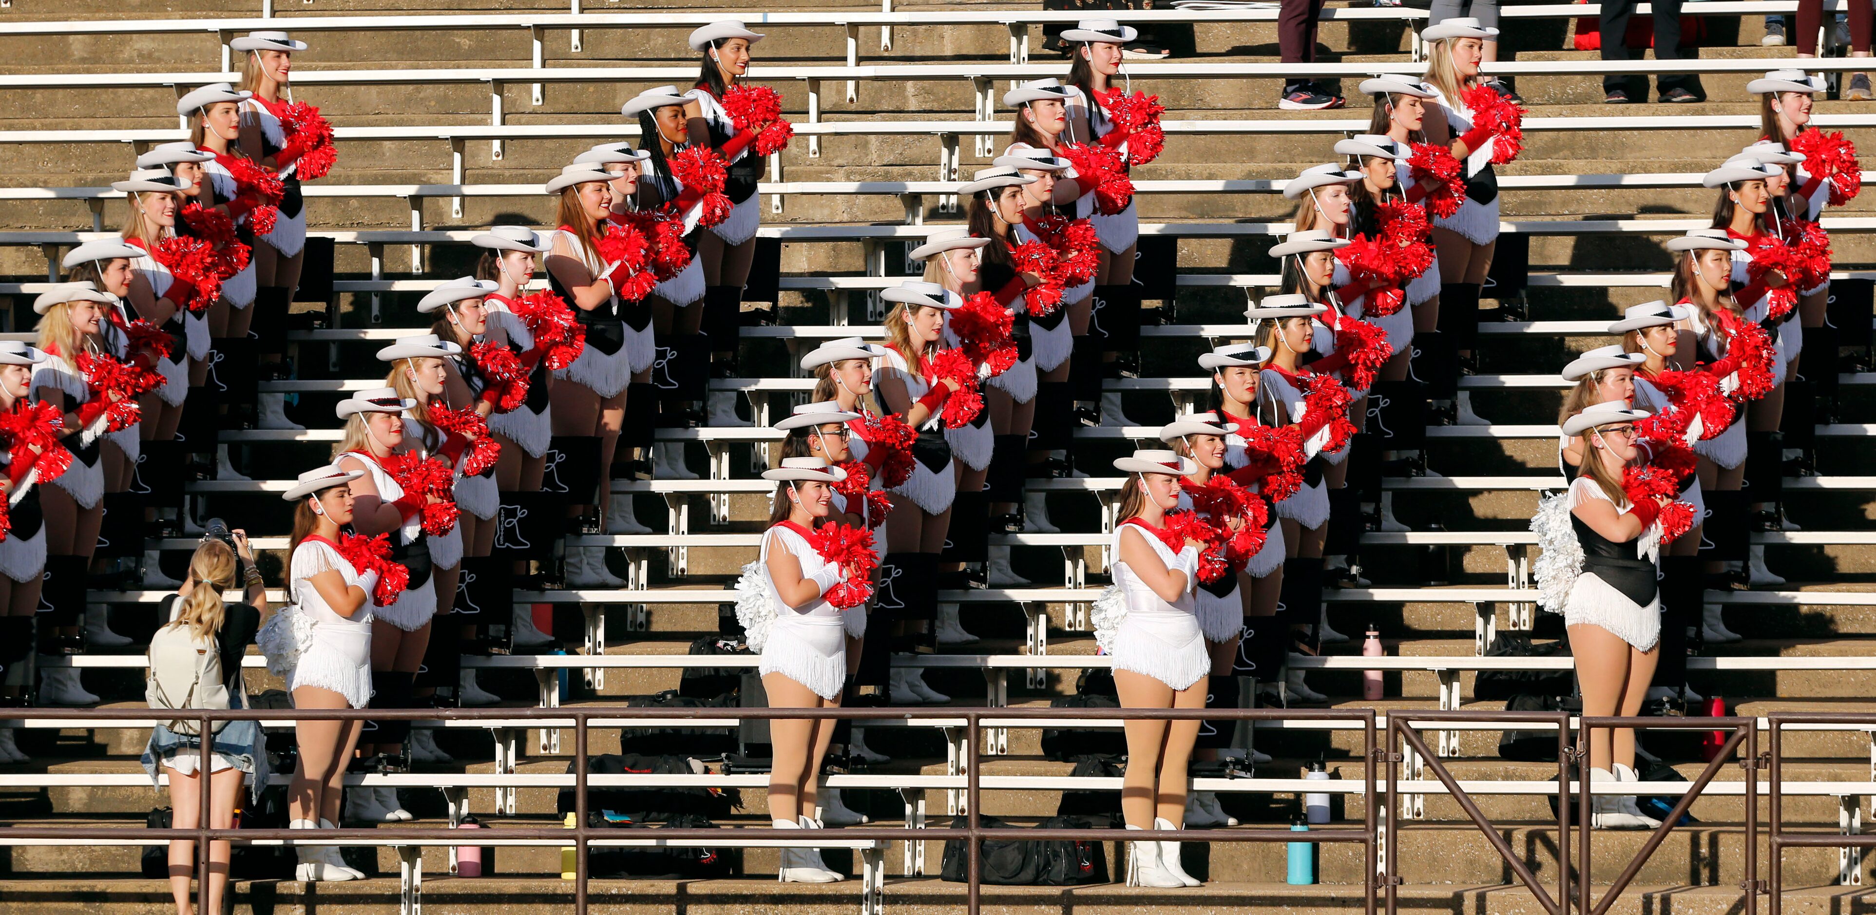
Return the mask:
[[[1024,840],[1077,840],[1077,842],[1351,842],[1364,848],[1362,894],[1366,915],[1375,915],[1377,896],[1377,804],[1375,804],[1375,711],[1373,709],[737,709],[739,718],[964,718],[968,752],[964,756],[966,776],[966,825],[964,827],[923,827],[915,840],[964,840],[966,855],[966,911],[981,913],[981,842],[987,838],[1021,836]],[[1398,712],[1396,712],[1398,714]],[[1454,714],[1454,712],[1443,712]],[[94,718],[109,720],[150,720],[150,709],[8,709],[8,718]],[[201,733],[210,735],[201,746],[201,771],[210,771],[210,750],[214,744],[210,722],[238,720],[291,720],[291,722],[343,722],[343,720],[572,720],[574,728],[574,827],[572,829],[503,829],[503,838],[557,840],[570,842],[576,849],[574,864],[574,913],[587,915],[587,851],[589,842],[615,838],[617,831],[593,829],[587,825],[587,728],[589,718],[722,718],[722,709],[180,709],[163,712],[167,718],[193,718],[201,724]],[[1313,829],[1293,832],[1289,829],[1182,829],[1182,831],[1127,831],[1124,838],[1112,829],[985,829],[979,821],[979,765],[983,744],[983,718],[1022,720],[1022,718],[1086,718],[1086,720],[1354,720],[1362,724],[1362,788],[1364,788],[1364,825],[1362,829]],[[1392,778],[1392,765],[1390,765]],[[210,793],[203,791],[201,825],[195,829],[139,829],[139,836],[188,840],[197,848],[197,874],[208,874],[210,842],[283,842],[319,844],[315,840],[332,838],[386,838],[377,829],[212,829],[208,827]],[[1392,832],[1392,819],[1390,832]],[[86,842],[116,838],[122,827],[9,827],[8,836]],[[906,829],[893,827],[844,827],[842,838],[857,840],[906,840]],[[657,838],[670,840],[724,840],[722,829],[658,829]],[[465,840],[458,829],[400,829],[398,844],[460,844]],[[803,836],[803,844],[812,838]],[[1390,844],[1392,849],[1392,844]],[[1392,868],[1390,868],[1392,870]],[[1392,887],[1390,887],[1392,902]],[[197,885],[197,908],[208,908],[208,881]]]

